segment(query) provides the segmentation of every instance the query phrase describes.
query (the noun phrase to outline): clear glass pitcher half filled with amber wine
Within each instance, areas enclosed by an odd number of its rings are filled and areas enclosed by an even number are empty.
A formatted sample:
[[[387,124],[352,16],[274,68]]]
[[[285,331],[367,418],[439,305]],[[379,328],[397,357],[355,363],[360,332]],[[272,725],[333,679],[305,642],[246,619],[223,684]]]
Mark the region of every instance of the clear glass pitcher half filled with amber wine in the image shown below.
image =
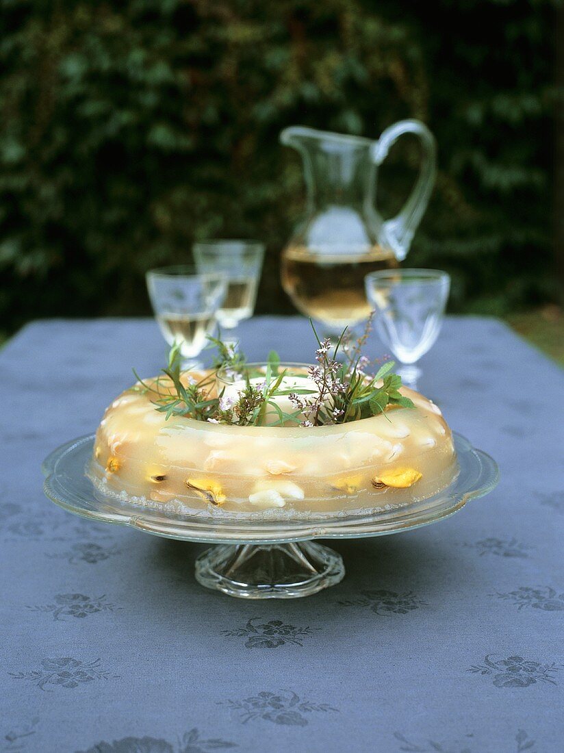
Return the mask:
[[[377,169],[404,133],[422,144],[419,177],[404,208],[383,220],[376,206]],[[282,252],[282,287],[302,313],[335,331],[370,313],[364,277],[398,267],[428,204],[436,172],[434,137],[419,120],[401,120],[380,139],[301,126],[280,134],[303,158],[303,219]]]

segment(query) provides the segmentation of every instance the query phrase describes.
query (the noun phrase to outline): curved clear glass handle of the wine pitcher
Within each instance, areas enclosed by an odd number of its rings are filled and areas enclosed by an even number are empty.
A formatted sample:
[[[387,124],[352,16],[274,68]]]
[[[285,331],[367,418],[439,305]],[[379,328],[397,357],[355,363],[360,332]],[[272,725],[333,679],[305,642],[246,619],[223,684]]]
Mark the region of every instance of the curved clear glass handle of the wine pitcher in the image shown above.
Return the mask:
[[[381,242],[392,248],[398,261],[403,261],[407,256],[413,235],[427,209],[437,174],[437,144],[431,131],[420,120],[400,120],[386,128],[380,139],[370,149],[372,160],[380,166],[388,156],[389,148],[404,133],[419,136],[422,146],[422,163],[413,191],[403,209],[382,225]]]

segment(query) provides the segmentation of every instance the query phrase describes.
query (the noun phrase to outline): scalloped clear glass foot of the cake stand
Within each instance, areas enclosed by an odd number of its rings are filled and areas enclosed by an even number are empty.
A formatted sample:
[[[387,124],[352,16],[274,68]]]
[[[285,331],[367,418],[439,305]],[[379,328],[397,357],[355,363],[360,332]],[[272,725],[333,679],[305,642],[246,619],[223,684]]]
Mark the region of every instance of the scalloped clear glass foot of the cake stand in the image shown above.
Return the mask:
[[[322,544],[221,544],[196,560],[196,580],[242,599],[295,599],[339,583],[340,554]]]

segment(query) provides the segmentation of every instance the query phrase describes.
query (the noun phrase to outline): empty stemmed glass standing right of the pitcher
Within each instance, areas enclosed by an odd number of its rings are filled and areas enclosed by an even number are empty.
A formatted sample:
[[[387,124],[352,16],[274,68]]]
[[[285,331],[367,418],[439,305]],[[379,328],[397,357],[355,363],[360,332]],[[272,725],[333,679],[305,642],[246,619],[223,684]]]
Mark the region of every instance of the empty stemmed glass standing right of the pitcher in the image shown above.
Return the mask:
[[[441,331],[450,276],[441,270],[386,270],[367,275],[364,284],[380,338],[400,361],[404,384],[417,389],[421,369],[415,364]]]

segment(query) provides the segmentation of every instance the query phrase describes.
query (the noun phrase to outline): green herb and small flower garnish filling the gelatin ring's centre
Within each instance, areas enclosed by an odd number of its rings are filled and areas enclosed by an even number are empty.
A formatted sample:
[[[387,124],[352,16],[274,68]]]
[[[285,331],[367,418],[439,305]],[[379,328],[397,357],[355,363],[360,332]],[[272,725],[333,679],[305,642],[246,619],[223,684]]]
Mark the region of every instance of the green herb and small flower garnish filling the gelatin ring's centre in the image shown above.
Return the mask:
[[[309,389],[288,389],[284,378],[288,370],[280,367],[276,351],[270,351],[261,380],[252,380],[245,355],[220,338],[209,337],[216,349],[214,367],[206,376],[196,380],[192,373],[181,369],[180,343],[170,349],[163,376],[151,382],[142,380],[134,371],[138,384],[133,389],[151,392],[156,410],[172,416],[184,416],[198,421],[238,426],[301,425],[326,426],[358,421],[386,413],[393,407],[412,408],[413,401],[399,392],[401,377],[393,373],[394,361],[386,361],[373,375],[367,373],[370,361],[362,355],[362,348],[371,330],[372,317],[367,320],[361,337],[352,342],[345,328],[333,346],[329,338],[320,340],[311,319],[313,334],[318,343],[317,364],[309,367],[307,376],[315,386]],[[339,359],[337,358],[339,356]],[[241,381],[242,389],[236,398],[217,394],[218,371],[233,381]],[[287,396],[293,411],[282,410],[276,398]],[[275,421],[271,420],[276,415]],[[387,416],[386,416],[387,417]]]

